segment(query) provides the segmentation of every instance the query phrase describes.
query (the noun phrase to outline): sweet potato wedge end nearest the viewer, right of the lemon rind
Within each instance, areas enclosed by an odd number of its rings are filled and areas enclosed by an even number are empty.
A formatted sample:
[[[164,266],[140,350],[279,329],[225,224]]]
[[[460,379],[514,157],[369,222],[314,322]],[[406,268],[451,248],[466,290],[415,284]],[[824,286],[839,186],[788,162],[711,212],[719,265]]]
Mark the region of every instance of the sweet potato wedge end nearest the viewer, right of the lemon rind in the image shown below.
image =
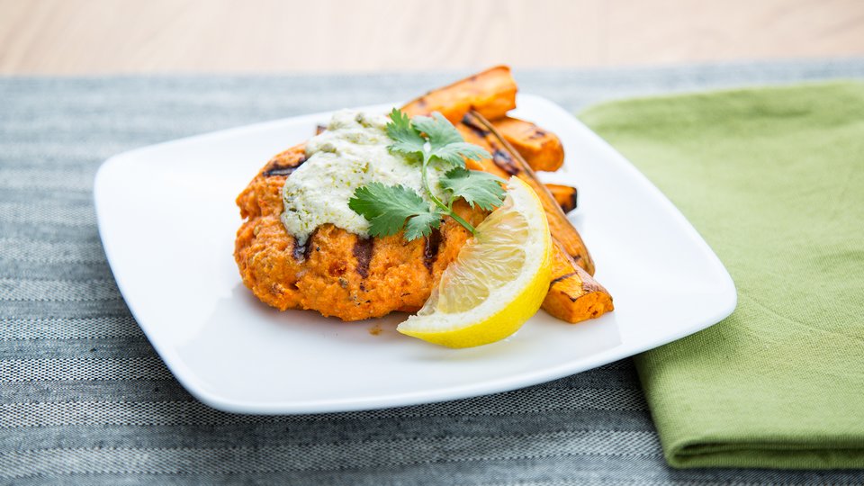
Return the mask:
[[[587,272],[576,265],[561,244],[554,242],[552,282],[543,309],[552,316],[575,323],[615,310],[612,296]]]

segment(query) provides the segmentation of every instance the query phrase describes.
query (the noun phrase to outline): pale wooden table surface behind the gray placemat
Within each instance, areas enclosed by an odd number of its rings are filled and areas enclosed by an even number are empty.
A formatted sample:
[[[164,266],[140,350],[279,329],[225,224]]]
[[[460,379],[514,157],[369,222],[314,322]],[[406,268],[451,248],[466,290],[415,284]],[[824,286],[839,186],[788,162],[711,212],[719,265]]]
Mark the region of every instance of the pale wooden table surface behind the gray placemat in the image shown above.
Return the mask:
[[[864,0],[0,0],[0,74],[598,67],[864,55]]]

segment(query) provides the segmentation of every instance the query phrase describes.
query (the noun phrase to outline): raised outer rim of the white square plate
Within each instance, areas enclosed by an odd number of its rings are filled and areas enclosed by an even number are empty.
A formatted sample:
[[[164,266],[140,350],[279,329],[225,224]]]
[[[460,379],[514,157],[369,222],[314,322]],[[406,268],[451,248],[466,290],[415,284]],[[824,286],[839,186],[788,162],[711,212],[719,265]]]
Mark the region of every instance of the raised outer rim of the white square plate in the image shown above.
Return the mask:
[[[173,347],[163,346],[164,343],[161,343],[159,341],[159,338],[153,335],[153,329],[149,329],[150,327],[146,323],[139,320],[139,312],[136,310],[136,305],[133,303],[134,299],[130,300],[127,292],[124,290],[125,285],[123,281],[125,280],[125,278],[117,275],[114,272],[115,259],[114,257],[112,257],[112,243],[110,242],[110,238],[106,238],[106,215],[103,208],[103,204],[105,203],[105,196],[100,197],[100,194],[103,193],[103,185],[105,184],[104,180],[107,176],[106,174],[109,174],[110,171],[115,168],[115,166],[122,164],[125,159],[128,159],[130,157],[139,157],[142,154],[146,154],[148,151],[170,148],[172,146],[183,145],[190,142],[194,143],[206,141],[207,139],[224,138],[226,136],[238,136],[242,135],[243,133],[251,133],[257,130],[278,126],[285,122],[302,123],[306,121],[316,121],[320,120],[322,117],[329,116],[330,113],[335,112],[336,110],[328,112],[300,114],[271,121],[261,121],[257,123],[241,125],[238,127],[224,130],[205,132],[190,137],[172,139],[157,144],[148,145],[145,147],[133,148],[113,155],[112,157],[108,157],[99,166],[99,169],[96,171],[96,174],[94,176],[93,199],[96,212],[96,222],[99,231],[99,238],[102,242],[103,250],[105,252],[108,264],[112,269],[112,275],[117,284],[118,290],[123,297],[123,301],[129,308],[129,311],[135,319],[136,323],[138,323],[139,328],[148,338],[148,341],[150,342],[152,347],[156,350],[158,356],[165,363],[168,370],[174,375],[175,379],[183,385],[184,389],[187,392],[192,394],[193,397],[195,397],[197,400],[202,401],[202,403],[216,410],[227,411],[230,413],[257,415],[295,415],[310,413],[347,412],[359,410],[380,410],[393,407],[435,403],[441,401],[454,401],[496,392],[509,392],[539,383],[550,382],[556,379],[563,378],[565,376],[569,376],[571,374],[581,373],[583,371],[587,371],[601,365],[606,365],[619,359],[625,359],[626,357],[635,356],[649,349],[653,349],[654,347],[660,347],[662,345],[669,344],[680,338],[684,338],[691,334],[694,334],[700,330],[707,329],[731,315],[735,307],[737,306],[738,301],[738,293],[732,276],[729,274],[728,270],[725,268],[720,258],[716,256],[713,248],[708,245],[705,238],[702,238],[702,236],[698,233],[698,230],[693,227],[689,220],[684,217],[683,213],[680,212],[680,210],[671,202],[671,200],[664,193],[662,193],[662,191],[656,185],[654,185],[647,178],[647,176],[645,176],[641,171],[639,171],[639,169],[636,168],[633,163],[631,163],[628,159],[626,159],[626,157],[621,155],[615,148],[609,145],[605,139],[602,139],[597,133],[595,133],[593,130],[590,130],[590,128],[588,128],[584,123],[582,123],[578,118],[576,118],[571,112],[567,112],[557,103],[554,103],[553,101],[541,95],[520,93],[518,94],[518,98],[522,101],[530,100],[530,103],[536,103],[538,105],[541,105],[544,110],[557,112],[558,114],[563,114],[570,117],[572,122],[581,126],[581,129],[583,129],[582,135],[590,137],[593,143],[601,146],[604,151],[608,152],[611,157],[616,159],[616,163],[620,168],[624,168],[631,176],[635,177],[638,183],[648,193],[651,193],[655,199],[658,199],[659,202],[661,202],[665,206],[665,212],[672,218],[674,218],[676,220],[676,223],[682,229],[689,233],[689,239],[693,243],[698,245],[701,253],[708,257],[711,266],[713,266],[718,271],[717,274],[720,277],[720,280],[722,280],[722,283],[718,281],[718,287],[720,286],[719,284],[722,284],[723,287],[720,296],[725,297],[725,301],[722,302],[722,305],[718,304],[717,310],[715,312],[710,315],[706,315],[706,317],[704,317],[703,319],[698,320],[698,322],[694,322],[689,326],[682,326],[680,329],[676,329],[676,332],[663,334],[662,338],[646,339],[639,342],[636,346],[627,347],[626,353],[623,356],[620,352],[619,347],[612,347],[595,353],[587,358],[582,357],[570,362],[563,363],[561,365],[541,368],[535,371],[528,371],[527,373],[518,374],[515,377],[488,379],[480,383],[468,383],[446,388],[438,388],[431,392],[401,392],[392,393],[389,395],[378,395],[373,397],[362,397],[353,399],[330,399],[317,401],[273,401],[266,403],[261,403],[257,401],[238,401],[234,399],[226,399],[224,397],[220,397],[217,393],[211,392],[205,385],[199,382],[196,373],[189,366],[185,365],[184,361],[176,355],[176,351]],[[380,109],[384,107],[391,107],[397,104],[398,103],[381,103],[371,106],[362,106],[357,109],[372,110],[376,108]],[[718,297],[718,300],[719,298],[720,297]]]

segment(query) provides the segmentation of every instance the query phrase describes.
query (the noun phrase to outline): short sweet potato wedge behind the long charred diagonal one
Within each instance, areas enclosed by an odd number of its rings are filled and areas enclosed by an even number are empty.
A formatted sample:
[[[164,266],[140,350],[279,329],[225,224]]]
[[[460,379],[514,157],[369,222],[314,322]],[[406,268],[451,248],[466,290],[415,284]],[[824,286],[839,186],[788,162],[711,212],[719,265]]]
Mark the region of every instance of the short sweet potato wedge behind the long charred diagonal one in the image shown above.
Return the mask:
[[[490,121],[532,169],[553,172],[563,166],[564,147],[554,133],[518,118]]]

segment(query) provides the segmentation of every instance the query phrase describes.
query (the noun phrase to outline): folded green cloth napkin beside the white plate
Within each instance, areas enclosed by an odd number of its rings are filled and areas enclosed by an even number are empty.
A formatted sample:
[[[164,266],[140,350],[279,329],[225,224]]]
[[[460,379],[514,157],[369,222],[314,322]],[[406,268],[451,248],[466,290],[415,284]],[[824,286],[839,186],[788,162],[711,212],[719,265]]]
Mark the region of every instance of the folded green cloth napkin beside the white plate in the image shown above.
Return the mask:
[[[581,114],[738,288],[636,358],[674,467],[864,468],[864,84],[637,99]]]

